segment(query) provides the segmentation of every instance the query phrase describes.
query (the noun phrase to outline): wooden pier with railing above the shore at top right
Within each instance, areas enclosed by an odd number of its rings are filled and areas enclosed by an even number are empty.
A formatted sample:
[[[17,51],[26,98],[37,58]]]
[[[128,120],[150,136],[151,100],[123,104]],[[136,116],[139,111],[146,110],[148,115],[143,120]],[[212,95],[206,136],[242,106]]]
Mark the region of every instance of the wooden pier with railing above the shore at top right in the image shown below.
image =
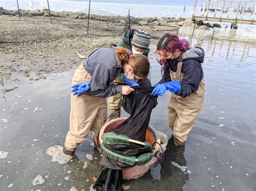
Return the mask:
[[[215,5],[212,4],[210,8],[212,2],[214,2]],[[250,6],[247,7],[247,3]],[[234,26],[237,24],[255,25],[255,5],[255,0],[204,0],[203,5],[201,5],[201,15],[199,16],[196,15],[197,0],[194,0],[192,20],[194,22],[208,20],[213,22],[233,23]],[[230,18],[232,8],[233,13],[236,13],[235,18]],[[209,12],[214,12],[213,16],[208,16]],[[217,12],[220,12],[220,16],[218,17],[216,16]],[[225,17],[223,13],[225,13]],[[244,19],[243,17],[246,13],[250,13],[252,19]]]

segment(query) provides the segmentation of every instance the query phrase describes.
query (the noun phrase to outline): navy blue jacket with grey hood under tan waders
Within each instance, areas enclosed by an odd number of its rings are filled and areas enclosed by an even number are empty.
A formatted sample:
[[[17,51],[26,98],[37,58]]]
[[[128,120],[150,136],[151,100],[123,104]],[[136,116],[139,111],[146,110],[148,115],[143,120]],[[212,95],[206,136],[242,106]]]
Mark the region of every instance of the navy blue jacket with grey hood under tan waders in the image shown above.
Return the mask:
[[[183,66],[181,72],[184,73],[184,78],[180,84],[181,90],[176,95],[186,97],[198,90],[199,84],[204,77],[201,66],[201,63],[204,62],[204,56],[204,49],[200,47],[193,47],[183,54]],[[164,66],[163,77],[158,83],[172,81],[170,70],[176,72],[178,62],[178,60],[167,59],[167,63]]]

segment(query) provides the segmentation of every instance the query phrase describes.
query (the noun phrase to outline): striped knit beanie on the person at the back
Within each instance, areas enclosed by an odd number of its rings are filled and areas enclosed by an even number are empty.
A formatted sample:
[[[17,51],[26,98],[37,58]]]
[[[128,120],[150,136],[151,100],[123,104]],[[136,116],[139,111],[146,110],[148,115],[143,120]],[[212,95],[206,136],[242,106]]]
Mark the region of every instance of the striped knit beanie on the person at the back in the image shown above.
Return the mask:
[[[145,31],[136,30],[133,34],[131,44],[137,48],[147,49],[150,45],[151,36]]]

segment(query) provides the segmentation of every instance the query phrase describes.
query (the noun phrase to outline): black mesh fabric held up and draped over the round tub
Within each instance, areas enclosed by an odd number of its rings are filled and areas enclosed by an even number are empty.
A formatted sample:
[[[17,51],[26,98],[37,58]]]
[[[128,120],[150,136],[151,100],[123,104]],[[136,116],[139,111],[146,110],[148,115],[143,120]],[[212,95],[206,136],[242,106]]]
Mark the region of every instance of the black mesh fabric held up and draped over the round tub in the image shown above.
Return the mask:
[[[112,131],[118,135],[125,135],[130,139],[144,142],[146,140],[146,130],[149,126],[152,109],[157,105],[157,97],[152,97],[151,92],[154,87],[134,87],[129,95],[123,96],[122,106],[124,110],[131,114],[122,124],[118,125]],[[111,151],[124,156],[138,157],[141,154],[148,153],[143,146],[137,144],[130,145],[106,145]],[[100,165],[103,166],[99,178],[93,185],[93,188],[104,188],[106,191],[121,190],[122,187],[122,169],[132,167],[129,164],[111,159],[103,154]],[[111,176],[114,178],[112,179]],[[119,178],[117,178],[117,176]]]

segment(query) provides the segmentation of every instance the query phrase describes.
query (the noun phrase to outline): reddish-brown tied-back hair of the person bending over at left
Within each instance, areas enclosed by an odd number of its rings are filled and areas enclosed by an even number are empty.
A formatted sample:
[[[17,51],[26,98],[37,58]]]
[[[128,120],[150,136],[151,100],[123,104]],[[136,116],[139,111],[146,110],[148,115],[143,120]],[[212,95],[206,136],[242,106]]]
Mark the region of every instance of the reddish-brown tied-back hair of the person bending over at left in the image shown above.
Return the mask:
[[[150,70],[150,62],[147,56],[136,54],[130,55],[126,48],[118,47],[115,51],[122,66],[128,64],[132,67],[135,75],[139,77],[147,77]]]

